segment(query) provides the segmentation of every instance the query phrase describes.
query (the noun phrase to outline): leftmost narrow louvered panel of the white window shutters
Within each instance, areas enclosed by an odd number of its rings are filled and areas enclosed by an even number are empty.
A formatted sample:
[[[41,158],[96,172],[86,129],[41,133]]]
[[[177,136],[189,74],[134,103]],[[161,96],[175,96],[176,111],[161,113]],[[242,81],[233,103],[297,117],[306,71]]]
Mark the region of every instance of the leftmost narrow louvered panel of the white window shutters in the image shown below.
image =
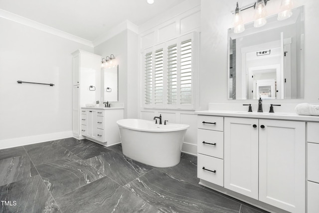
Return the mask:
[[[153,52],[145,54],[145,72],[144,72],[144,104],[153,103]]]

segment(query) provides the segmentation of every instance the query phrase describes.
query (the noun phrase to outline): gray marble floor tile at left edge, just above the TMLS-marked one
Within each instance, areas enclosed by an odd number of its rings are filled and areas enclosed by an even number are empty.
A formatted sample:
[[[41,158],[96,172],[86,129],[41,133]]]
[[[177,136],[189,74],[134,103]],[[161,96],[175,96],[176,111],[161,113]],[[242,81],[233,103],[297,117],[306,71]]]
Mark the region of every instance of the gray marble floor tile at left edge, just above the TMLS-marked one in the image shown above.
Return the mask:
[[[30,158],[25,155],[0,160],[0,186],[38,175]]]

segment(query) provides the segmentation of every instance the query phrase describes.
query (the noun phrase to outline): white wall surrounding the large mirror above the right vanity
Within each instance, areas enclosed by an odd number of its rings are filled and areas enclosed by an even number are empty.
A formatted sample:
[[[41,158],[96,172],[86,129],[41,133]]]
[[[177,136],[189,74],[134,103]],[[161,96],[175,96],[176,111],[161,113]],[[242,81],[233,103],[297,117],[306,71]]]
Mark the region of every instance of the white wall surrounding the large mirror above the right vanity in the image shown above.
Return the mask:
[[[239,103],[251,100],[227,99],[227,29],[232,27],[237,0],[212,1],[201,0],[201,64],[200,95],[201,109],[207,109],[208,103]],[[269,15],[278,13],[280,0],[267,2]],[[319,1],[295,0],[295,7],[305,5],[305,98],[291,100],[265,100],[265,103],[318,103],[319,72],[316,53],[319,49],[318,25]],[[243,0],[240,6],[252,4],[252,0]],[[244,13],[245,12],[245,13]],[[252,21],[253,9],[243,11],[244,20]],[[317,55],[317,56],[316,56]],[[207,92],[205,92],[207,91]],[[218,92],[217,92],[218,91]]]

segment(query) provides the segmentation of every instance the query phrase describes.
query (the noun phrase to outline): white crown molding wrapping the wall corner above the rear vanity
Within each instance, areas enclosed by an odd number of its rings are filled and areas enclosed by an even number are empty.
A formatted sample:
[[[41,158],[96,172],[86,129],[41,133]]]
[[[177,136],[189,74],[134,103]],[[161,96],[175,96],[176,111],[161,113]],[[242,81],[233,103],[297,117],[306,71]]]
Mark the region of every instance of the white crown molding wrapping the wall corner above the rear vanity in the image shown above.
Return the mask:
[[[103,33],[97,39],[95,39],[93,41],[93,46],[97,46],[97,45],[103,43],[104,41],[107,41],[108,39],[112,38],[113,36],[119,34],[120,32],[122,32],[126,29],[129,29],[137,34],[139,33],[139,27],[137,25],[135,25],[134,23],[132,23],[129,20],[125,20],[122,23],[114,26],[113,28],[111,28],[107,32]]]

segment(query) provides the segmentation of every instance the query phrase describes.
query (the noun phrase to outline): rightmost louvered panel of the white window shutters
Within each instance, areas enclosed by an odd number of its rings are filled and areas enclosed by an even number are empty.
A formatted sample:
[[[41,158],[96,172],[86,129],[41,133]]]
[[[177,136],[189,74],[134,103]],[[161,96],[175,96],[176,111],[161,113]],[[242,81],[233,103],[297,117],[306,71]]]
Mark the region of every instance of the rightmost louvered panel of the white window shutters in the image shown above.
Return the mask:
[[[192,41],[180,43],[180,104],[192,104]]]

